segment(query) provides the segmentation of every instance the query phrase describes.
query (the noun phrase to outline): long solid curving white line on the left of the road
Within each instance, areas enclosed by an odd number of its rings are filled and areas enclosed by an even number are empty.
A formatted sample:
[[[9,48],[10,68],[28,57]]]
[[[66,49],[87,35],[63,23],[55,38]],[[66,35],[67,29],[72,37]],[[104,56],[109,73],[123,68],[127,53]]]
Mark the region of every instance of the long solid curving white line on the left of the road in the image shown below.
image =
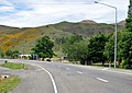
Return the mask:
[[[50,75],[50,78],[51,78],[51,80],[52,80],[53,88],[54,88],[54,93],[58,93],[58,92],[57,92],[57,86],[56,86],[55,80],[54,80],[53,75],[51,74],[51,72],[47,71],[46,69],[44,69],[43,67],[38,66],[38,65],[35,65],[35,63],[30,63],[30,65],[40,67],[42,70],[44,70],[44,71]]]

